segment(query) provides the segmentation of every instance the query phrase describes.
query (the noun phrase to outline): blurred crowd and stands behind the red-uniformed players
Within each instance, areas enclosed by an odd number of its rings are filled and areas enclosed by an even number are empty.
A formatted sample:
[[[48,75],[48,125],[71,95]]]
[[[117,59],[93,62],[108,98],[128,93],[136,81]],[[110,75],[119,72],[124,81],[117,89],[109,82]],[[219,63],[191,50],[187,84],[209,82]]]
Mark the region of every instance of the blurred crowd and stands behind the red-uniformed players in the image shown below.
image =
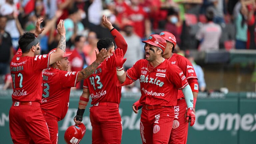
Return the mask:
[[[144,58],[142,40],[169,31],[177,39],[175,53],[192,62],[200,91],[254,91],[255,10],[255,0],[0,0],[0,87],[11,88],[19,36],[34,32],[38,18],[45,28],[38,36],[41,54],[57,47],[56,25],[64,19],[66,50],[73,52],[69,70],[80,71],[96,59],[98,40],[112,38],[101,22],[106,15],[128,43],[125,69]],[[246,54],[254,54],[249,62],[231,64],[232,56]],[[138,83],[122,90],[139,92]]]

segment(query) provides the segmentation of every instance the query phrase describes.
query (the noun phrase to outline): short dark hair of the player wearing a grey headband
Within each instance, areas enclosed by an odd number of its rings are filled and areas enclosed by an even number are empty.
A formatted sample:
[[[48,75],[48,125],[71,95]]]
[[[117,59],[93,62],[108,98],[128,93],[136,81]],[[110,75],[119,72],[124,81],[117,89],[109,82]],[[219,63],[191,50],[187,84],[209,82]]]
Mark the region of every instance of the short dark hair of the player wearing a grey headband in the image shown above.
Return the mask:
[[[30,49],[25,50],[28,44],[35,40],[35,34],[31,32],[26,32],[19,38],[19,46],[22,53],[28,53]]]

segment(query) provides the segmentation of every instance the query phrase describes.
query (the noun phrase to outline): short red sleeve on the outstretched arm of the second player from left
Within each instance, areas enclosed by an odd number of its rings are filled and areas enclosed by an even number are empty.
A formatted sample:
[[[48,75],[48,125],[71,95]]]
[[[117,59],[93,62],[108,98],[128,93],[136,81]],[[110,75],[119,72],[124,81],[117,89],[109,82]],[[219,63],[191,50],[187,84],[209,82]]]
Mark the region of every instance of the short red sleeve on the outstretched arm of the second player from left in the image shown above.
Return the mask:
[[[59,80],[62,87],[76,87],[77,76],[79,72],[61,71],[59,73]]]

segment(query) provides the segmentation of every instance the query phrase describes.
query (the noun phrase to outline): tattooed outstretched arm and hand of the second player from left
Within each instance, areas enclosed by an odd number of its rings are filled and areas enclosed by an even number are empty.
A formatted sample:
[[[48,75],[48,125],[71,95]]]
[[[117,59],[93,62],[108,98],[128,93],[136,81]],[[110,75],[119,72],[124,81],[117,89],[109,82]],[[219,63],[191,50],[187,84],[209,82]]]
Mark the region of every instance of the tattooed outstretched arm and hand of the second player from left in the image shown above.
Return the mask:
[[[95,51],[96,51],[96,60],[91,65],[89,65],[85,69],[82,69],[79,72],[77,76],[77,81],[81,81],[89,77],[96,70],[99,64],[102,63],[109,56],[107,54],[106,49],[101,49],[100,52],[98,52],[98,50],[95,50]]]

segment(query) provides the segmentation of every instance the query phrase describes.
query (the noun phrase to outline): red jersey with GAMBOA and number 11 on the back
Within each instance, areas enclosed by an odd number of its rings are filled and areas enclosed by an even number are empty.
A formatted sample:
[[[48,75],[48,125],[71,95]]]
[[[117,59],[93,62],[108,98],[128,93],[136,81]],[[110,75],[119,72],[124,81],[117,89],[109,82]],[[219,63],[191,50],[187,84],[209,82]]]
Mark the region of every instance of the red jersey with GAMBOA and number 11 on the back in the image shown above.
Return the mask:
[[[22,57],[21,50],[14,55],[10,70],[12,76],[12,101],[36,101],[42,99],[42,70],[48,68],[50,55]]]

